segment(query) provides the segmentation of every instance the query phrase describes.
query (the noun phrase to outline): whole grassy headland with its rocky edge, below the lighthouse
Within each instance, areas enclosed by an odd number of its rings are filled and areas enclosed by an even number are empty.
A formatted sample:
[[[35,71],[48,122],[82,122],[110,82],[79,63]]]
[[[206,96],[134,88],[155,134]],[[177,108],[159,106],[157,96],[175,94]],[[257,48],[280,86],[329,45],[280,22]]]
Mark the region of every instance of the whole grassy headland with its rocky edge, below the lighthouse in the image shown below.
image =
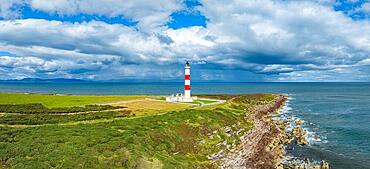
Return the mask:
[[[162,96],[0,96],[2,168],[311,165],[284,161],[285,145],[302,135],[273,118],[286,95],[198,95],[191,103]]]

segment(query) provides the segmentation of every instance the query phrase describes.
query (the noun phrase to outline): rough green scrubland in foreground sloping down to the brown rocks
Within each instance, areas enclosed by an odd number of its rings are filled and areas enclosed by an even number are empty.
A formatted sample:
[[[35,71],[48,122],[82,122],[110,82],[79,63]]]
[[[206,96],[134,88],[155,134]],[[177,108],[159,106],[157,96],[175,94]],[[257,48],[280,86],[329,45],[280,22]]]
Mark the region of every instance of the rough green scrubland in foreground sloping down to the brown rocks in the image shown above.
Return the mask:
[[[150,104],[159,107],[148,115],[134,115],[134,108],[2,114],[0,168],[216,168],[217,162],[208,157],[237,146],[239,137],[253,127],[246,110],[274,96],[207,97],[228,101],[174,109],[160,109],[159,103],[133,104],[138,110]]]

